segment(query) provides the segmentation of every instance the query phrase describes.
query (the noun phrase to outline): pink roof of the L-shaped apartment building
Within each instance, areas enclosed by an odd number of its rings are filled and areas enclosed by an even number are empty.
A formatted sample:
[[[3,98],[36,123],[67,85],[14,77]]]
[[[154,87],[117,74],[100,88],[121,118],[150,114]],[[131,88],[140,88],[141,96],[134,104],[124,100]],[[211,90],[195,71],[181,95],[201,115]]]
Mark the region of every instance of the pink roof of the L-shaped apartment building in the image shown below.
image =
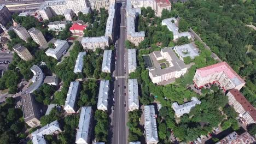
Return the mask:
[[[224,73],[229,77],[229,79],[233,79],[234,77],[236,77],[242,83],[245,83],[245,81],[236,73],[236,71],[233,70],[229,66],[229,64],[226,63],[226,62],[221,62],[221,63],[209,65],[207,67],[197,69],[196,71],[202,77],[212,75],[213,73],[220,73],[220,72],[224,71]]]

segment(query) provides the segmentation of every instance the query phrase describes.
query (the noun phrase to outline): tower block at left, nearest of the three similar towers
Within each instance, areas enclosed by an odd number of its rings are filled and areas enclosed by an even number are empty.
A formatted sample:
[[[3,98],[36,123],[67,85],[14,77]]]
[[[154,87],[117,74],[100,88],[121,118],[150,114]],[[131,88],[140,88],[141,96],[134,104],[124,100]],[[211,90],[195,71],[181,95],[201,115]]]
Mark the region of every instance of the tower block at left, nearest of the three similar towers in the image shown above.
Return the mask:
[[[13,50],[24,61],[30,61],[31,59],[33,59],[30,51],[28,51],[27,48],[22,46],[21,44],[16,44],[15,46],[13,46]]]

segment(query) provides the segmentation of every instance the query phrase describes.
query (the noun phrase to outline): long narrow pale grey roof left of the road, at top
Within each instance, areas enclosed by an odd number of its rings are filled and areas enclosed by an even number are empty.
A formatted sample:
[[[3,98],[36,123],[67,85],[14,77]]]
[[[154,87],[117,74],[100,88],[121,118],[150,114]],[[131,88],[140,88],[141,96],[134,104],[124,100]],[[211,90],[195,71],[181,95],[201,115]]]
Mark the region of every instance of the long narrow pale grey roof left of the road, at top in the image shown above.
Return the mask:
[[[112,35],[113,32],[113,21],[115,17],[115,4],[110,4],[108,8],[108,20],[105,29],[105,35]]]

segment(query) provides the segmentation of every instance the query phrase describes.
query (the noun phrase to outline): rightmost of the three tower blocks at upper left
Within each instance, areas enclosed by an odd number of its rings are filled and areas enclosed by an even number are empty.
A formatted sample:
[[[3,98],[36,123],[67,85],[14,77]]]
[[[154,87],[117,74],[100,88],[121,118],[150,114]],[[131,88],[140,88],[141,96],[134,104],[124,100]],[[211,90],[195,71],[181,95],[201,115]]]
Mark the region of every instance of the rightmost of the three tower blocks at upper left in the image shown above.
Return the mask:
[[[47,41],[45,40],[43,33],[38,29],[32,27],[28,29],[28,33],[31,35],[34,42],[36,42],[38,45],[43,46],[47,44]]]

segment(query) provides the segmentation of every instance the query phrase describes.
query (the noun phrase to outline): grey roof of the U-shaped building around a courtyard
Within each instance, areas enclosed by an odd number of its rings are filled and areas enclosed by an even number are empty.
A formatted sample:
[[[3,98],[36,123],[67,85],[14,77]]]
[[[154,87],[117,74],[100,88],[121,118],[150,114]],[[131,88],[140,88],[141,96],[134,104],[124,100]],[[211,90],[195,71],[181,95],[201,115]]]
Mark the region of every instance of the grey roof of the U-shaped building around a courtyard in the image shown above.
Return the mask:
[[[168,55],[171,57],[171,67],[167,67],[165,69],[161,69],[160,65],[156,61],[153,53],[150,53],[150,57],[154,63],[154,67],[149,68],[149,73],[152,73],[153,76],[160,76],[163,74],[171,73],[172,71],[181,71],[182,69],[186,68],[185,63],[179,59],[176,54],[173,52],[171,47],[166,47],[165,49],[161,49],[162,52],[167,52]],[[170,64],[171,65],[171,64]]]

